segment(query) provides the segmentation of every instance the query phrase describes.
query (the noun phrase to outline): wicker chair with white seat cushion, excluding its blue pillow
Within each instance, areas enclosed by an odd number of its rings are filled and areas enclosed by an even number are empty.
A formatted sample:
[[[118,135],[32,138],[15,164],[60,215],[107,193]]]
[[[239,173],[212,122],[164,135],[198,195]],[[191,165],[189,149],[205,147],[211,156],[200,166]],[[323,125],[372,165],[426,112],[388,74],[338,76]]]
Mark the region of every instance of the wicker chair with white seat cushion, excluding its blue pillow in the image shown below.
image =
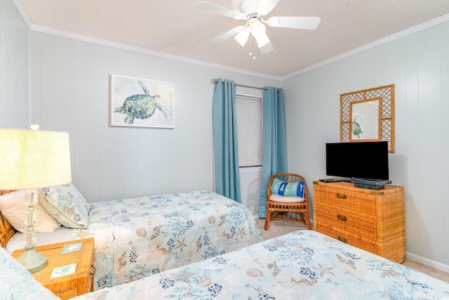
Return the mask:
[[[265,219],[265,230],[269,228],[269,221],[280,219],[298,221],[306,224],[307,229],[310,229],[307,185],[304,187],[304,200],[301,200],[302,202],[292,202],[292,197],[278,195],[273,195],[274,197],[272,197],[271,187],[274,178],[288,183],[306,181],[304,177],[293,173],[279,173],[270,176],[267,184],[267,219]],[[289,201],[281,202],[283,200]]]

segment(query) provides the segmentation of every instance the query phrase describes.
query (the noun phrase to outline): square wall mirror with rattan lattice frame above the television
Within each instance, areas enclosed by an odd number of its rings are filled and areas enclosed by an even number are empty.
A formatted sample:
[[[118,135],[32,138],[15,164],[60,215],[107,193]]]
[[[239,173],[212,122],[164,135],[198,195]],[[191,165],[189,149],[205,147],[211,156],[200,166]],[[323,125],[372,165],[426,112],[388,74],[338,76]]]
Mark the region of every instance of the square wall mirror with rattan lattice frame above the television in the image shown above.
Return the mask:
[[[394,152],[394,84],[340,95],[340,141],[387,141]]]

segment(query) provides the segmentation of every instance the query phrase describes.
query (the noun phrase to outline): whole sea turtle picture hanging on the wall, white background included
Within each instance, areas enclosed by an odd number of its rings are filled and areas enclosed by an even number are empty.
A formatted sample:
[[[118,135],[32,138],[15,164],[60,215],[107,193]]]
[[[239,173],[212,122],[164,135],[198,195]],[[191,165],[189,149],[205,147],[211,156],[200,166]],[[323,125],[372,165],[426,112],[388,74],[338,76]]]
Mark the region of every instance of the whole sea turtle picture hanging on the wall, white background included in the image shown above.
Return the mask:
[[[175,84],[110,75],[111,126],[175,128]]]

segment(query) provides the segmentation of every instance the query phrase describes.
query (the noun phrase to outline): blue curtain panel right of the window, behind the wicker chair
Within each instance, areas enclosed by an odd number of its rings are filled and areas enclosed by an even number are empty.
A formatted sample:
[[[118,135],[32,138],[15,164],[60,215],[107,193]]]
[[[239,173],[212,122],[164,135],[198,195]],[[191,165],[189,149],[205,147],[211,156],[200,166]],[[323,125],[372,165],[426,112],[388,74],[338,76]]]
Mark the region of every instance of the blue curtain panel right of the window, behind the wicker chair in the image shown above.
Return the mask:
[[[287,171],[286,124],[283,91],[264,88],[262,95],[262,182],[259,217],[267,217],[267,184],[272,174]]]

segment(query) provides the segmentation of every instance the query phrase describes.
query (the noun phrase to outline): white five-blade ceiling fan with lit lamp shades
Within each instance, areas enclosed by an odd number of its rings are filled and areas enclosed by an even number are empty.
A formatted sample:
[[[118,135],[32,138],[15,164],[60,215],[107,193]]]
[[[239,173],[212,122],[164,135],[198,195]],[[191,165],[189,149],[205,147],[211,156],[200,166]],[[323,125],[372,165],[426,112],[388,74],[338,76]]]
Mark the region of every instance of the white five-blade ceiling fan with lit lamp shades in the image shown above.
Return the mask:
[[[217,46],[223,41],[234,37],[234,39],[245,46],[250,34],[253,35],[260,53],[265,54],[274,50],[271,41],[265,32],[265,25],[270,27],[287,27],[304,30],[315,30],[320,23],[318,17],[264,17],[271,12],[280,0],[232,0],[232,8],[225,8],[206,1],[200,1],[196,8],[218,15],[225,15],[236,20],[246,20],[245,25],[237,26],[228,32],[208,42],[209,46]]]

